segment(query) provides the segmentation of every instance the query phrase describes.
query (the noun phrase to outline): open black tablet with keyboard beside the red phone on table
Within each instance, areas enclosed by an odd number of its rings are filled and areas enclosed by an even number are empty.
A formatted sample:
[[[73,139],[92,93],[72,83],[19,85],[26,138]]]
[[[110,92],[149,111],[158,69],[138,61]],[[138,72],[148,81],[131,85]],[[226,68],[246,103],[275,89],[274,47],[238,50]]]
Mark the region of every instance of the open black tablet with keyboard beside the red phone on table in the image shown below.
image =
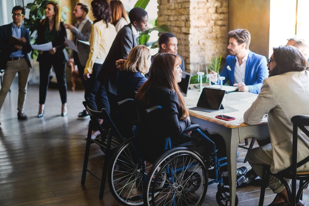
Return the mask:
[[[202,112],[215,112],[224,109],[222,105],[224,95],[225,90],[205,87],[197,102],[197,107],[190,109]]]

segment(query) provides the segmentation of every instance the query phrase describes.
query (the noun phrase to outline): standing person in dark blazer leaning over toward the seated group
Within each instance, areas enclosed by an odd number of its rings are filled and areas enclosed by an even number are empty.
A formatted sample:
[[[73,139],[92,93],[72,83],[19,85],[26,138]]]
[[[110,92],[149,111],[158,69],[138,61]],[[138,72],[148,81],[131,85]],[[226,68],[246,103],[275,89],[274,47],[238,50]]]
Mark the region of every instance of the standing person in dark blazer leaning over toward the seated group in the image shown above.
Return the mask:
[[[148,26],[147,12],[140,7],[135,7],[129,12],[129,19],[130,24],[125,25],[117,33],[97,77],[106,88],[112,118],[116,114],[117,103],[117,67],[115,63],[119,59],[128,57],[131,49],[138,45],[138,31],[143,32]]]

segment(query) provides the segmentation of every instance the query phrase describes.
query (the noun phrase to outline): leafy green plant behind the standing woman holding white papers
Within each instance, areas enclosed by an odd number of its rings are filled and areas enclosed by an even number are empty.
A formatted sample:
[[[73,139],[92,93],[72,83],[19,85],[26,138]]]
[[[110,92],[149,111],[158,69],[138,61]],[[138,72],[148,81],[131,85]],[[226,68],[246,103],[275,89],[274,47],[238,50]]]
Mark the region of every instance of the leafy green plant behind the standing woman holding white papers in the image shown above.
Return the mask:
[[[29,9],[29,19],[24,19],[24,27],[28,28],[30,31],[30,44],[36,43],[36,30],[37,26],[42,19],[45,18],[45,7],[48,2],[57,2],[58,5],[61,7],[61,20],[66,22],[66,12],[70,10],[66,6],[61,6],[61,1],[57,0],[34,0],[33,3],[28,3],[26,6]],[[37,50],[33,50],[31,53],[31,58],[36,59],[39,52]]]

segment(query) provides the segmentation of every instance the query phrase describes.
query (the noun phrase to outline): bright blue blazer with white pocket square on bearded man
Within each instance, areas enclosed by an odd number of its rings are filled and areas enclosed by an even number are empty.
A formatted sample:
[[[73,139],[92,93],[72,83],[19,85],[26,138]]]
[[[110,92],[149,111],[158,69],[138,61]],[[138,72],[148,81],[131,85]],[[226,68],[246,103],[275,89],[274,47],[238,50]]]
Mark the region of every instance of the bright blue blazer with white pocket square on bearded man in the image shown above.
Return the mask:
[[[265,56],[256,54],[249,50],[249,55],[246,63],[245,84],[249,87],[251,93],[258,94],[261,91],[263,80],[268,77],[268,68]],[[228,55],[220,76],[224,76],[223,84],[230,79],[230,84],[234,84],[234,69],[236,65],[235,56]],[[231,70],[227,69],[227,66]]]

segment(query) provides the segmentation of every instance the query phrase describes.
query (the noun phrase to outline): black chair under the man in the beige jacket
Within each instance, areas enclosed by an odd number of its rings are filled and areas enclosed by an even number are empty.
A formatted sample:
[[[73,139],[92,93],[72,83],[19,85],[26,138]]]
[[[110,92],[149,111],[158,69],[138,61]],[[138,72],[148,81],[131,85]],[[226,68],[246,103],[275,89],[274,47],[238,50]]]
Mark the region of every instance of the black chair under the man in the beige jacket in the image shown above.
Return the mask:
[[[262,186],[260,194],[259,206],[263,205],[265,188],[268,186],[269,176],[273,175],[278,178],[286,187],[288,193],[289,201],[291,205],[298,204],[299,200],[303,198],[303,190],[307,188],[309,184],[309,171],[296,171],[296,169],[309,161],[309,156],[304,160],[297,162],[297,139],[298,139],[298,128],[309,137],[309,130],[305,126],[309,126],[309,115],[298,115],[291,118],[293,123],[293,147],[292,147],[292,165],[273,174],[270,172],[270,167],[268,165],[263,165],[263,174],[262,174]],[[307,152],[308,151],[303,151]],[[292,188],[290,189],[289,185],[283,178],[292,179]],[[296,180],[299,180],[299,189],[296,194]]]

